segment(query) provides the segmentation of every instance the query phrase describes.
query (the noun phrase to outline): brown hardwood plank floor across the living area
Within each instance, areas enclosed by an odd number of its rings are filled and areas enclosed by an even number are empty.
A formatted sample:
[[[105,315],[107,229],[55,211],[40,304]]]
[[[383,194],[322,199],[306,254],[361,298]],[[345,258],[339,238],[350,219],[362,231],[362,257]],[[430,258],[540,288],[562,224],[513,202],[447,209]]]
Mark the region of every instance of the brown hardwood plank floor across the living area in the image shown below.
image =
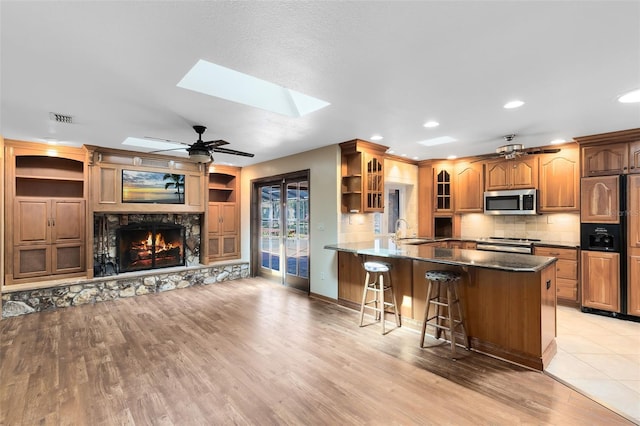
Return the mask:
[[[259,278],[8,318],[0,424],[630,424],[543,373],[357,322]]]

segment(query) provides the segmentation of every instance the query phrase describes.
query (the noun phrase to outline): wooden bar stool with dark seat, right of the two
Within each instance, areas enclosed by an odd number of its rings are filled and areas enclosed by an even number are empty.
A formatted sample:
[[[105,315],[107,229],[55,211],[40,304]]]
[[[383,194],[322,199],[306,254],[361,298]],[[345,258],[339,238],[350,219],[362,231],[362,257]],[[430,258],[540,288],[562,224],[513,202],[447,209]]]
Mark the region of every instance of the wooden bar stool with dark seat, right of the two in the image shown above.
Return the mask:
[[[424,308],[424,322],[422,323],[422,335],[420,336],[420,347],[424,348],[424,336],[427,325],[435,329],[434,337],[440,338],[440,333],[449,332],[451,341],[451,357],[456,358],[456,329],[460,328],[464,338],[464,347],[469,349],[469,336],[465,327],[462,309],[460,309],[460,298],[458,297],[457,285],[460,281],[460,273],[455,271],[427,271],[425,278],[429,281],[427,289],[427,304]],[[443,289],[444,287],[444,289]],[[444,291],[443,291],[444,290]],[[446,293],[443,294],[443,292]],[[435,313],[429,316],[429,310],[434,306]],[[445,312],[446,311],[446,314]],[[457,318],[455,315],[457,314]],[[433,323],[430,321],[435,320]]]

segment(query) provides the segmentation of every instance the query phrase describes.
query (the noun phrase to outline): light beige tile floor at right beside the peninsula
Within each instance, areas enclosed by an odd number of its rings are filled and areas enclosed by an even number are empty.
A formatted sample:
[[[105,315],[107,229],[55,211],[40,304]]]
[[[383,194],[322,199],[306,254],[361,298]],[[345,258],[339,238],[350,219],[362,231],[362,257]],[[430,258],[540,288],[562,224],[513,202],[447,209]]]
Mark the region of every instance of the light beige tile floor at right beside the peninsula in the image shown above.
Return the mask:
[[[640,424],[640,323],[558,306],[545,373]]]

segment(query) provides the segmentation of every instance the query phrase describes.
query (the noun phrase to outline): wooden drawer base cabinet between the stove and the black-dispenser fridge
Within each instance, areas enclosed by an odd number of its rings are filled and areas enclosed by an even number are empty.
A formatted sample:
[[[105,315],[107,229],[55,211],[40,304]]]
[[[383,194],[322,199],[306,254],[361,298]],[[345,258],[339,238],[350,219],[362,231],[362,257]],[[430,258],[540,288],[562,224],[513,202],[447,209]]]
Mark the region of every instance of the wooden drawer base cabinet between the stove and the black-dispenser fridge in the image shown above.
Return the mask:
[[[556,290],[558,303],[578,306],[580,304],[579,295],[579,272],[578,249],[562,247],[541,247],[535,246],[533,254],[536,256],[555,257],[556,261]]]

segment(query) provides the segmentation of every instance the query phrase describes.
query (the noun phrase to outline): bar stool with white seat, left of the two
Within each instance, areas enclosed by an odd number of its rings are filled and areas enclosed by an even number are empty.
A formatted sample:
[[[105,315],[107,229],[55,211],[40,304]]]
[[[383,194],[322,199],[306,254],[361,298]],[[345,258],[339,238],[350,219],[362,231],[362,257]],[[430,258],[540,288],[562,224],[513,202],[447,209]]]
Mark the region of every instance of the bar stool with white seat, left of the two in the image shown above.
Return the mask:
[[[375,313],[376,321],[382,323],[382,334],[385,334],[384,315],[385,313],[391,313],[387,308],[393,308],[396,324],[400,327],[396,294],[391,284],[391,274],[389,274],[391,265],[384,262],[364,262],[363,266],[364,270],[367,271],[367,275],[364,280],[364,291],[362,292],[362,303],[360,305],[360,327],[363,327],[364,309],[369,308]],[[387,282],[384,280],[385,275],[387,276]],[[374,296],[371,300],[367,300],[367,294],[369,292],[372,292]],[[392,302],[385,300],[386,292],[391,292]]]

